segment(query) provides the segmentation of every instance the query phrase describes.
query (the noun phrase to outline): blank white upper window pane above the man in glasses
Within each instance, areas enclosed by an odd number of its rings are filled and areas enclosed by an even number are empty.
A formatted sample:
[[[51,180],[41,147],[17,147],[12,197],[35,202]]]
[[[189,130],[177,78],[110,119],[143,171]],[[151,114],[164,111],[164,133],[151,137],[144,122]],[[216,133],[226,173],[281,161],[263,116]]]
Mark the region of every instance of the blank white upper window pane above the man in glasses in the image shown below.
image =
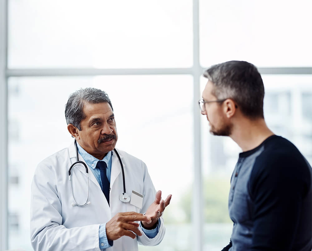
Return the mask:
[[[312,66],[312,2],[200,0],[201,64]]]

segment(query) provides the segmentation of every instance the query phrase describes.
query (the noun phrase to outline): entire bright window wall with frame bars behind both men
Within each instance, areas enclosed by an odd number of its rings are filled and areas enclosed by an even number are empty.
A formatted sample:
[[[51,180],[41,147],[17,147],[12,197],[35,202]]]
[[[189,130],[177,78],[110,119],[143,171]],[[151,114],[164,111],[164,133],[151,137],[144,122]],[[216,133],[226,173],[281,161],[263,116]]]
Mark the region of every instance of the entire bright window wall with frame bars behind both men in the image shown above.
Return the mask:
[[[163,242],[140,251],[219,251],[230,240],[227,196],[241,149],[210,135],[200,115],[211,64],[255,64],[267,124],[312,163],[311,1],[2,2],[0,250],[32,250],[34,169],[72,143],[64,106],[80,88],[109,94],[117,148],[173,194]]]

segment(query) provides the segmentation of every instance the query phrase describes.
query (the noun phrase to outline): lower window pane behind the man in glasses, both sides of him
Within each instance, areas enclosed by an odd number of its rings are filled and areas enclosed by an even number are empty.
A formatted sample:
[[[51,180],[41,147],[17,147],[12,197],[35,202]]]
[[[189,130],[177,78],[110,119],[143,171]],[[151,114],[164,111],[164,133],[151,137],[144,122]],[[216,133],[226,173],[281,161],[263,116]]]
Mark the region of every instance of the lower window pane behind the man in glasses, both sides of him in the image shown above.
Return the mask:
[[[263,75],[264,116],[269,128],[293,142],[312,163],[312,76]],[[201,94],[207,83],[201,78]],[[199,112],[199,111],[198,111]],[[228,214],[230,179],[241,149],[230,137],[209,133],[202,116],[204,250],[220,251],[230,241],[233,223]]]

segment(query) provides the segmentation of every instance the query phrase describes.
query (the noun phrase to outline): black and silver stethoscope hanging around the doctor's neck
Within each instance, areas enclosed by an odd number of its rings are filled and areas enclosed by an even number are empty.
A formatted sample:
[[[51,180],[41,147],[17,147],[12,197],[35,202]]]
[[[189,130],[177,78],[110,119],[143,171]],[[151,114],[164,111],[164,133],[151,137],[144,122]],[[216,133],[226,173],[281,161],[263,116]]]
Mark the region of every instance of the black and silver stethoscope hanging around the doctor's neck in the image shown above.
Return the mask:
[[[69,168],[69,170],[68,170],[69,182],[70,182],[70,184],[71,184],[71,196],[73,197],[73,200],[74,200],[74,202],[71,203],[71,206],[86,206],[86,205],[90,205],[90,204],[91,204],[91,202],[88,201],[88,198],[89,198],[89,176],[88,176],[88,168],[87,168],[87,165],[86,165],[84,162],[80,161],[79,158],[78,158],[78,147],[77,147],[77,142],[76,142],[76,140],[75,140],[75,147],[76,147],[76,159],[77,159],[77,161],[76,161],[75,163],[73,163],[73,164],[71,165],[71,167]],[[120,200],[121,202],[129,202],[129,201],[130,201],[130,196],[126,193],[126,185],[125,185],[125,182],[124,182],[124,166],[123,166],[123,164],[122,164],[122,161],[121,161],[121,159],[120,159],[120,156],[119,156],[117,150],[114,149],[114,151],[115,151],[115,153],[117,154],[117,157],[118,157],[118,159],[119,159],[119,163],[120,163],[120,166],[121,166],[121,172],[122,172],[122,181],[123,181],[123,185],[124,185],[124,192],[121,193],[121,194],[119,195],[119,200]],[[85,173],[86,173],[86,176],[87,176],[87,199],[85,200],[85,203],[83,203],[82,205],[80,205],[80,204],[78,204],[78,203],[76,202],[75,196],[74,196],[74,193],[73,193],[72,183],[71,183],[71,169],[72,169],[76,164],[83,164],[83,165],[84,165],[84,167],[85,167]]]

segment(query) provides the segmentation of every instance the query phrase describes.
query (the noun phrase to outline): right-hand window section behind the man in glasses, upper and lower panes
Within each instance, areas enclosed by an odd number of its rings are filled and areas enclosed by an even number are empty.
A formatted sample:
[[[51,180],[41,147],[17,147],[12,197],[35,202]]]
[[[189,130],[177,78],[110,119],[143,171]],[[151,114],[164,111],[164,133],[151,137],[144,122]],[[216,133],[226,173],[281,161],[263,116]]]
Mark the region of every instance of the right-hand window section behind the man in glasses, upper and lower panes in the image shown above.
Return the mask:
[[[275,134],[292,141],[310,163],[312,75],[291,73],[312,73],[311,68],[300,68],[312,66],[312,35],[307,31],[311,7],[308,1],[202,0],[199,8],[201,65],[245,60],[259,67],[266,123]],[[206,82],[201,78],[201,92]],[[210,135],[204,116],[201,130],[203,250],[218,251],[230,242],[233,223],[227,196],[241,149],[229,137]]]

